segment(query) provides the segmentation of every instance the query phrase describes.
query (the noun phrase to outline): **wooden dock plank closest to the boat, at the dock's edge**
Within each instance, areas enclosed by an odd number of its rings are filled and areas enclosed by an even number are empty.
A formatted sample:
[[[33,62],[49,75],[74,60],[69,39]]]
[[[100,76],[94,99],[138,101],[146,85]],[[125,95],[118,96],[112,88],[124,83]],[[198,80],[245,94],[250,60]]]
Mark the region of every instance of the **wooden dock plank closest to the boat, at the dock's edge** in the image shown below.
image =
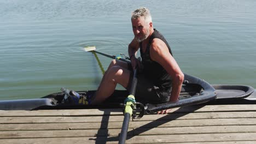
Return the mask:
[[[256,105],[207,105],[186,106],[172,109],[171,112],[217,112],[217,111],[256,111]],[[123,115],[121,109],[84,109],[84,110],[37,110],[37,111],[3,111],[0,117],[5,116],[98,116]]]

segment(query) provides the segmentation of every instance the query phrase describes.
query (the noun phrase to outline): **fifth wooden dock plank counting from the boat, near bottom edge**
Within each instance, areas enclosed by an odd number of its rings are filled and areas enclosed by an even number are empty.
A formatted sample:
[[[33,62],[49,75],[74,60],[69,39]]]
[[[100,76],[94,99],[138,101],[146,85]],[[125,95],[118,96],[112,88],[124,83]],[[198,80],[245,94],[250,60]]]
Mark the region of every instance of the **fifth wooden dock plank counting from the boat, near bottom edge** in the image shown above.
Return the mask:
[[[256,141],[256,133],[224,133],[224,134],[182,134],[152,135],[127,137],[126,143],[185,143],[185,142],[225,142]],[[0,139],[0,143],[41,144],[41,143],[117,143],[118,137],[57,137],[38,139]],[[194,143],[193,143],[194,144]],[[251,144],[251,143],[250,143]]]

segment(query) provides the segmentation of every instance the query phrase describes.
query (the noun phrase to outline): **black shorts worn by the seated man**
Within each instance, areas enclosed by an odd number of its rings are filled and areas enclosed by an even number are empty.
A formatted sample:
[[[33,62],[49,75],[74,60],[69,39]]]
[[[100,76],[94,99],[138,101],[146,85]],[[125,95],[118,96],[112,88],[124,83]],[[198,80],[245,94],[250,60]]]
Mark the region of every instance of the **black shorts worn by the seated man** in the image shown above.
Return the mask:
[[[129,66],[129,69],[131,66]],[[130,91],[132,85],[133,74],[130,75],[127,90]],[[166,103],[170,99],[171,88],[160,89],[156,87],[153,81],[146,79],[143,74],[137,74],[137,87],[135,92],[135,99],[141,103],[160,104]]]

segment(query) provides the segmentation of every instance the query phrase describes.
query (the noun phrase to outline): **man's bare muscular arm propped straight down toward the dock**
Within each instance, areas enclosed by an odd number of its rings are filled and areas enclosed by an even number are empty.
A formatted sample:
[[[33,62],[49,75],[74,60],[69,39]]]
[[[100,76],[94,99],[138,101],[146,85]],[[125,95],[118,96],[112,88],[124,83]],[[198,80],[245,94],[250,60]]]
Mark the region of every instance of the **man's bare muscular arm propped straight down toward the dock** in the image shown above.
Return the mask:
[[[172,92],[170,101],[176,101],[181,92],[184,74],[182,73],[179,65],[170,54],[168,47],[164,41],[160,39],[153,39],[150,46],[150,58],[158,62],[164,67],[167,73],[172,77]]]

